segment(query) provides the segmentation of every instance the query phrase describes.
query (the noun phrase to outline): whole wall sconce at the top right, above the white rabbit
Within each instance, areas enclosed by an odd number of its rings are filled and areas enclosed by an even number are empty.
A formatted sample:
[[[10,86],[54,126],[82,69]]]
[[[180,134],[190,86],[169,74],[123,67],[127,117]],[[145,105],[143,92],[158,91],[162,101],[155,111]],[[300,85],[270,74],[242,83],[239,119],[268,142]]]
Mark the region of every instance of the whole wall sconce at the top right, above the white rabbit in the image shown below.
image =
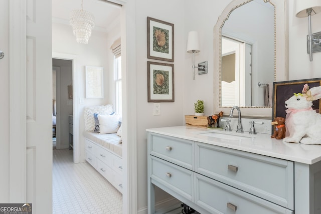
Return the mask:
[[[321,51],[321,32],[311,33],[311,16],[321,12],[320,0],[296,0],[296,17],[307,17],[307,53],[312,62],[312,53]]]

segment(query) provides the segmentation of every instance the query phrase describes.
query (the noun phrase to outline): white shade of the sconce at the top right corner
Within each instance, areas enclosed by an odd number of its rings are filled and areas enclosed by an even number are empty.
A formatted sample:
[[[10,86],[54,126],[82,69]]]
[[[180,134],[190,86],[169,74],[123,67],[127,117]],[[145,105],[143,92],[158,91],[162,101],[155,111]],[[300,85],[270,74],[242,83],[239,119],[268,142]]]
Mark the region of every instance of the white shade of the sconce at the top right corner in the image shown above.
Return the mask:
[[[296,17],[307,17],[306,9],[312,9],[311,16],[321,12],[321,0],[296,0]]]

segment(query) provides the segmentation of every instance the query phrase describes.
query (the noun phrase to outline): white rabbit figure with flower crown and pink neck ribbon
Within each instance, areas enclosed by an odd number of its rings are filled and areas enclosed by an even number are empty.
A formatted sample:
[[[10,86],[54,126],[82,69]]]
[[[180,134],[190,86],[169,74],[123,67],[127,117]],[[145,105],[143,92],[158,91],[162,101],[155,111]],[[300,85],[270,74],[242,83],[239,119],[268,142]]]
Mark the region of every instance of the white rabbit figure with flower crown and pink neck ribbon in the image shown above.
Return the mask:
[[[309,89],[304,85],[302,93],[295,93],[285,101],[286,134],[283,141],[303,144],[321,144],[321,114],[312,109],[312,101],[321,98],[321,86]],[[321,106],[319,107],[321,108]]]

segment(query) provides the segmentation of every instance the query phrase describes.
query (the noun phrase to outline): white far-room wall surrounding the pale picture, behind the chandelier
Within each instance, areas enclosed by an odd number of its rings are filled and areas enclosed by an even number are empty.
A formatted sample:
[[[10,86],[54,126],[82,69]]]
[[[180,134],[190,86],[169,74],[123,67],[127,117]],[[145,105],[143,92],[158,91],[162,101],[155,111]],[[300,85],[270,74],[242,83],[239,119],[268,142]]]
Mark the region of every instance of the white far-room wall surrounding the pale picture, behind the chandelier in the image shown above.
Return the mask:
[[[79,100],[74,100],[79,106],[79,111],[74,112],[74,118],[79,117],[79,139],[80,139],[80,161],[85,161],[84,139],[82,132],[84,130],[84,107],[93,105],[105,105],[112,103],[109,97],[109,69],[112,60],[109,59],[110,42],[107,34],[103,32],[93,31],[87,45],[76,43],[76,37],[72,35],[71,26],[53,23],[52,24],[52,50],[54,53],[65,53],[77,56],[77,72],[78,79],[74,82],[74,87],[78,88]],[[86,99],[85,87],[85,66],[98,66],[104,69],[104,99]],[[77,86],[76,86],[77,85]]]

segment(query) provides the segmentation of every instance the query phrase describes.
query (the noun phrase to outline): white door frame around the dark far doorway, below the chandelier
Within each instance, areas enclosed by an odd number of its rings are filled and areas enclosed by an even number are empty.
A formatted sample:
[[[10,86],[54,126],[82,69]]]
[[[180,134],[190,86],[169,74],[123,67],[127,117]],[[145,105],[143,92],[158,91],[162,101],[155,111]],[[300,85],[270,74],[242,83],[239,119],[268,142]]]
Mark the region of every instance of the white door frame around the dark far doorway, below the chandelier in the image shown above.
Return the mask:
[[[57,53],[53,52],[52,53],[52,58],[55,59],[62,59],[62,60],[71,60],[72,61],[72,82],[73,82],[73,87],[72,87],[72,93],[73,93],[73,100],[72,100],[72,105],[73,105],[73,112],[74,115],[79,115],[79,95],[78,95],[78,84],[77,84],[77,79],[78,79],[78,74],[76,72],[76,66],[77,66],[77,55],[74,54],[66,54],[66,53]],[[80,130],[79,130],[79,117],[73,117],[74,122],[73,122],[73,132],[74,132],[74,163],[80,163]]]

